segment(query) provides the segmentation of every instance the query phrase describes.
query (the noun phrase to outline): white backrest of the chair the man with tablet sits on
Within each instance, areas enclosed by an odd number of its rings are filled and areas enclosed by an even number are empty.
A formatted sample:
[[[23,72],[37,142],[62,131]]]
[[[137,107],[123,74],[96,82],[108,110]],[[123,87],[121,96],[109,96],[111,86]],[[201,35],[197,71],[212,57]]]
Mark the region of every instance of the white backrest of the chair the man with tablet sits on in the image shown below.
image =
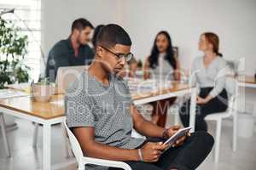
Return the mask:
[[[67,118],[64,119],[64,126],[66,127],[66,130],[67,130],[67,136],[71,143],[73,154],[76,156],[77,161],[80,161],[81,158],[84,157],[84,154],[80,147],[78,139],[74,136],[74,134],[71,132],[69,127],[67,127]]]

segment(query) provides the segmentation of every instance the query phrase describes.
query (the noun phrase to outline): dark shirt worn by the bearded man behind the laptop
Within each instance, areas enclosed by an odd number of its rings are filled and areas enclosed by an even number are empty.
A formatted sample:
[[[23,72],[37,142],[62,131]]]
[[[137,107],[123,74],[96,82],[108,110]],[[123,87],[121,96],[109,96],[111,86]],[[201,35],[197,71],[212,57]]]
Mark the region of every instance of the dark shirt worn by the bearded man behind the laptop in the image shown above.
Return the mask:
[[[55,82],[58,68],[61,66],[90,65],[94,59],[93,50],[86,44],[80,45],[79,54],[75,56],[71,39],[56,42],[55,46],[49,50],[49,57],[46,64],[46,77],[50,82]]]

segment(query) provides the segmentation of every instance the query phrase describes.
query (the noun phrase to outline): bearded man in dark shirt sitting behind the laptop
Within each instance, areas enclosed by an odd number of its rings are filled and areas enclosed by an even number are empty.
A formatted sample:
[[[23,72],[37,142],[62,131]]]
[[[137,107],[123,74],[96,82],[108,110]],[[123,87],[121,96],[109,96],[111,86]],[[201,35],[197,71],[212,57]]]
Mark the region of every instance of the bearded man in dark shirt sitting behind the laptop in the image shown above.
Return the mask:
[[[61,66],[90,65],[94,59],[94,52],[87,44],[90,42],[90,34],[93,30],[90,21],[80,18],[74,20],[71,35],[59,42],[49,51],[46,64],[46,77],[50,82],[55,82],[58,68]]]

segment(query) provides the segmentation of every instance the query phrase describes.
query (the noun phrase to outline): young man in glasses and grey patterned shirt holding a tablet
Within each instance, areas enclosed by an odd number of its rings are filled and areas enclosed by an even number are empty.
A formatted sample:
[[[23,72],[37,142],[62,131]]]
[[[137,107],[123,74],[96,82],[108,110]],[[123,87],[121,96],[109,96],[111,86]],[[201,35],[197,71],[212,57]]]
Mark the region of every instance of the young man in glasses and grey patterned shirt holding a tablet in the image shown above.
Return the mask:
[[[131,39],[122,27],[102,27],[96,37],[95,60],[67,90],[67,126],[79,140],[84,156],[125,161],[133,170],[195,169],[212,150],[212,136],[191,133],[166,150],[163,141],[180,127],[158,127],[137,111],[127,83],[119,77],[132,57],[130,49]],[[132,128],[148,139],[132,138]],[[108,168],[115,169],[86,166]]]

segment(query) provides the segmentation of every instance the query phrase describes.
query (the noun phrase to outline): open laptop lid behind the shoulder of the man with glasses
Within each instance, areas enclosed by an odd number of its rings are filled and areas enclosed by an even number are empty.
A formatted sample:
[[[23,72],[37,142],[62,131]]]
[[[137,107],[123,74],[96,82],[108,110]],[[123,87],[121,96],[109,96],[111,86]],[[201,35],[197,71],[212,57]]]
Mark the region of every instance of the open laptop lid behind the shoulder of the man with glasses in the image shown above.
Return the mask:
[[[55,94],[65,94],[69,84],[79,78],[87,68],[88,65],[59,67],[55,79]]]

